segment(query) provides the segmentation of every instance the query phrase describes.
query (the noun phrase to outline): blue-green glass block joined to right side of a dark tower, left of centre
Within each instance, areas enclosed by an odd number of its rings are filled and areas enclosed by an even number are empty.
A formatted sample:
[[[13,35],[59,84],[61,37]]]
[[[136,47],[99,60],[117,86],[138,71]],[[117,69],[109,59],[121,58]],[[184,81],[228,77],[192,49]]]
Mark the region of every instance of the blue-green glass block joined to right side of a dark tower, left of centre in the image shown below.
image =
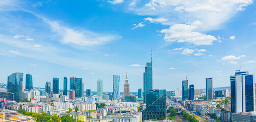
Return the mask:
[[[83,96],[82,78],[75,78],[74,80],[75,97],[81,98]]]

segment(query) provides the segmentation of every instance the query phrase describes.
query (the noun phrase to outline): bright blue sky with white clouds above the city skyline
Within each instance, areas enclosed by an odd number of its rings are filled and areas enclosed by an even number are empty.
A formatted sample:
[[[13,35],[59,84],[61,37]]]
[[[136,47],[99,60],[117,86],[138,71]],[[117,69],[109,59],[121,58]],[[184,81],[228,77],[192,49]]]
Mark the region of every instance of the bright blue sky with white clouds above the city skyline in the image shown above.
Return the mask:
[[[153,50],[153,88],[174,90],[189,80],[205,88],[230,86],[235,70],[256,72],[256,5],[252,0],[87,0],[0,2],[0,82],[14,72],[33,85],[63,77],[84,89],[112,91],[125,75],[132,92],[143,88]],[[25,80],[25,77],[24,77]],[[25,82],[23,82],[23,85]]]

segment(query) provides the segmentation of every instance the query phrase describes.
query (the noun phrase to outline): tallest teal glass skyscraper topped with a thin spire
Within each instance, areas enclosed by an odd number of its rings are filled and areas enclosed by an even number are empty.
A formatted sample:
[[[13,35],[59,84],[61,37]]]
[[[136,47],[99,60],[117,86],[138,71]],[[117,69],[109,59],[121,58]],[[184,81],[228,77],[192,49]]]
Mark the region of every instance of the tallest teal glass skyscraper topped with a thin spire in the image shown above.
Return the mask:
[[[149,90],[153,89],[153,78],[152,78],[152,51],[151,51],[151,62],[147,63],[147,67],[145,67],[145,73],[144,75],[144,103],[147,102],[147,92],[149,92]]]

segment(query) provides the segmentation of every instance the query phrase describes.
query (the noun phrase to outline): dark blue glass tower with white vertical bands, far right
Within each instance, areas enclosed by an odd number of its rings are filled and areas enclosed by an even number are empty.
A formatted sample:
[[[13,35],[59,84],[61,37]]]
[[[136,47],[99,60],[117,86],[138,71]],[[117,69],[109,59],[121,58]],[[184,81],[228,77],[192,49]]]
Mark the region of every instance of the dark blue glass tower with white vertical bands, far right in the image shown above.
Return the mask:
[[[248,71],[236,71],[230,76],[231,82],[231,112],[255,111],[255,81],[254,74]]]

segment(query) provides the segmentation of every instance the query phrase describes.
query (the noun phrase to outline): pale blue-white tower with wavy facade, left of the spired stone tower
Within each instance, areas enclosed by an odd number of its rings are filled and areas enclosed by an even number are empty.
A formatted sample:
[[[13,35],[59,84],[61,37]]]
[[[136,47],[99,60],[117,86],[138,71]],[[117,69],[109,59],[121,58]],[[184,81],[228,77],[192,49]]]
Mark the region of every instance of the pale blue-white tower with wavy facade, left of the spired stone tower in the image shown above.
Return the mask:
[[[113,75],[113,100],[120,100],[119,82],[120,75]]]

